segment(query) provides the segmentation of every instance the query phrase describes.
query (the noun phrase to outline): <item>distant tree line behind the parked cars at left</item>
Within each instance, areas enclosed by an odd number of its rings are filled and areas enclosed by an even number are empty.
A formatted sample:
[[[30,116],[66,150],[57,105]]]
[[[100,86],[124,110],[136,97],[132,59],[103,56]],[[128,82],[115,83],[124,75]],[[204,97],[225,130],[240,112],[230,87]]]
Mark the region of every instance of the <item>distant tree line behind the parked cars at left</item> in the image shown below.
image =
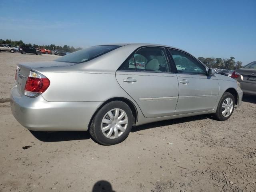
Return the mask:
[[[14,46],[32,46],[34,48],[42,47],[42,48],[50,49],[50,50],[61,49],[61,50],[64,50],[64,51],[70,52],[70,53],[82,49],[80,47],[74,48],[73,46],[69,46],[69,45],[59,46],[59,45],[55,45],[55,44],[50,44],[50,45],[37,45],[37,44],[31,44],[31,43],[25,44],[22,40],[12,41],[11,39],[6,39],[6,40],[0,39],[0,44],[10,44],[10,45],[14,45]]]

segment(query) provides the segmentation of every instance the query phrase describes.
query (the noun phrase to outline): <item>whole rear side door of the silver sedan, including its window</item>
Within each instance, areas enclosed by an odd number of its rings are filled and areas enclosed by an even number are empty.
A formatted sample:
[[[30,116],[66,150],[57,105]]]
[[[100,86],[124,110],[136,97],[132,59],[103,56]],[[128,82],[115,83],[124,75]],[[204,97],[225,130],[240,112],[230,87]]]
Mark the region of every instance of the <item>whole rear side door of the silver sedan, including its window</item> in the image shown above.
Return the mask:
[[[163,47],[143,47],[117,70],[116,79],[147,118],[171,116],[178,101],[178,79]]]

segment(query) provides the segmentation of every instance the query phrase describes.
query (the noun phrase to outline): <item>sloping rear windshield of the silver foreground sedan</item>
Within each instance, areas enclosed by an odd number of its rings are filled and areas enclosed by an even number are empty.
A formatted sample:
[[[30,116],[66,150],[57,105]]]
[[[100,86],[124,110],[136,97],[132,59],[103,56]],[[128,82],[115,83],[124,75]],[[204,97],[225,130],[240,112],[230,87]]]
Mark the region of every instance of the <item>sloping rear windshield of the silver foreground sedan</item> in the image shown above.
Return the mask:
[[[62,56],[55,61],[58,62],[70,62],[70,63],[82,63],[88,60],[92,60],[98,56],[101,56],[107,52],[110,52],[120,46],[116,45],[100,45],[100,46],[93,46],[86,49],[82,49],[76,51],[74,53],[70,53],[68,55]]]

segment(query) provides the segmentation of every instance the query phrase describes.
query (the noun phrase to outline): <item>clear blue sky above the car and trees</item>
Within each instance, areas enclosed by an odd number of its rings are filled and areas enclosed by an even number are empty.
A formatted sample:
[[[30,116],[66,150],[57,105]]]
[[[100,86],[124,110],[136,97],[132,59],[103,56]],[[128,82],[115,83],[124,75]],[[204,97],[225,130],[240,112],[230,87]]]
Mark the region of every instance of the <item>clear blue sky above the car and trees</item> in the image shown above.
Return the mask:
[[[256,60],[256,0],[0,0],[0,38],[88,47],[146,42]]]

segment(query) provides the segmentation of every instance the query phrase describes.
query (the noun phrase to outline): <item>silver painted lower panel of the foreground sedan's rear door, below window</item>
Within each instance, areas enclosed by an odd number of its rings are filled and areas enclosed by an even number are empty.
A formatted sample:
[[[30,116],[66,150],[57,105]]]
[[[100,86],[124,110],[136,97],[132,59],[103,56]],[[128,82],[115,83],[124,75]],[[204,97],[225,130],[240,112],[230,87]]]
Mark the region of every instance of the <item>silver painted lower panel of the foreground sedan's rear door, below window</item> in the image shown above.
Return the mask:
[[[124,82],[133,78],[136,82]],[[152,72],[116,72],[116,80],[147,118],[173,115],[178,101],[177,75]]]

